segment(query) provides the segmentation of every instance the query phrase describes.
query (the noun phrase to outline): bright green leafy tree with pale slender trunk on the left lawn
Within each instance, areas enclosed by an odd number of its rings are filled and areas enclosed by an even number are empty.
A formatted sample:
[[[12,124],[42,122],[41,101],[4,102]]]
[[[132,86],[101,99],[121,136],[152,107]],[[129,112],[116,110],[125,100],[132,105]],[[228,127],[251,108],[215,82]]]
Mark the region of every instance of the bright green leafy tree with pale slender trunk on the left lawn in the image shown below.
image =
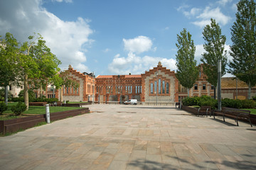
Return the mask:
[[[24,86],[24,103],[28,109],[28,84],[35,86],[45,81],[48,84],[51,77],[58,73],[60,61],[50,52],[46,41],[40,34],[29,36],[29,42],[23,42],[18,57],[20,76]],[[37,40],[37,42],[36,42]]]

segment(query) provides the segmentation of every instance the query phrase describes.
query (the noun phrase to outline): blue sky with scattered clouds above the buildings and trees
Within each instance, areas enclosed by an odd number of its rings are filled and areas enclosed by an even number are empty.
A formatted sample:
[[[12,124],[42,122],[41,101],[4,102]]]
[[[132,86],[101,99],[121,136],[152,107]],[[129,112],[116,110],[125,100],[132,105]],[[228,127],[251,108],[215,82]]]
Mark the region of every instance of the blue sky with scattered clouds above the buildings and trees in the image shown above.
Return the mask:
[[[79,72],[143,74],[156,67],[176,70],[177,34],[186,28],[201,64],[203,28],[214,18],[226,36],[238,0],[1,0],[0,35],[19,42],[40,33],[51,52]],[[232,57],[228,55],[228,60]],[[226,74],[225,77],[232,75]]]

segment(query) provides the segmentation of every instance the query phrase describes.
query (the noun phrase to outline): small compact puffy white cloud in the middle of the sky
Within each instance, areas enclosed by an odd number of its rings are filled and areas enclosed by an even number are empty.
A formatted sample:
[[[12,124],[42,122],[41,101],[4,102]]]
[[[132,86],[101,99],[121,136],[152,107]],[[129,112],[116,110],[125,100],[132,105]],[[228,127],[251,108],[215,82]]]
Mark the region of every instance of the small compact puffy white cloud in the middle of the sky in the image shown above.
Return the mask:
[[[133,39],[123,39],[124,50],[129,52],[136,52],[137,54],[151,50],[153,45],[150,38],[145,36],[138,36]]]

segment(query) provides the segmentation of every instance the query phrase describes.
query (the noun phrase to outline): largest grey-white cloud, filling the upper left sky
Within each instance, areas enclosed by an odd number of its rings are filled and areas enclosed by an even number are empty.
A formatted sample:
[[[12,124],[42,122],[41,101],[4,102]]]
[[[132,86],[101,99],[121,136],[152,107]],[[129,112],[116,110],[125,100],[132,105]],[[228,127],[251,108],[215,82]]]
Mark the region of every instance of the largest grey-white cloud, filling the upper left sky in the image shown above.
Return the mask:
[[[85,47],[93,40],[89,36],[93,33],[89,21],[78,18],[77,21],[63,21],[41,6],[41,1],[0,1],[4,10],[0,11],[0,35],[6,32],[14,34],[21,41],[27,41],[29,35],[41,33],[46,45],[63,63],[60,68],[67,68],[69,64],[80,72],[88,72]]]

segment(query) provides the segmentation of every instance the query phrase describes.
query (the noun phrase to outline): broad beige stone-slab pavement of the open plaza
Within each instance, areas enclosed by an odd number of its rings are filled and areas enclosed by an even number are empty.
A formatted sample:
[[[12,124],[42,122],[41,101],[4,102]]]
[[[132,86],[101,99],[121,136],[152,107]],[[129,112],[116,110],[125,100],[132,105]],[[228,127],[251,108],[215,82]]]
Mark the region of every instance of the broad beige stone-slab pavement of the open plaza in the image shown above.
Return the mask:
[[[174,107],[93,113],[0,137],[0,169],[256,169],[256,129]]]

